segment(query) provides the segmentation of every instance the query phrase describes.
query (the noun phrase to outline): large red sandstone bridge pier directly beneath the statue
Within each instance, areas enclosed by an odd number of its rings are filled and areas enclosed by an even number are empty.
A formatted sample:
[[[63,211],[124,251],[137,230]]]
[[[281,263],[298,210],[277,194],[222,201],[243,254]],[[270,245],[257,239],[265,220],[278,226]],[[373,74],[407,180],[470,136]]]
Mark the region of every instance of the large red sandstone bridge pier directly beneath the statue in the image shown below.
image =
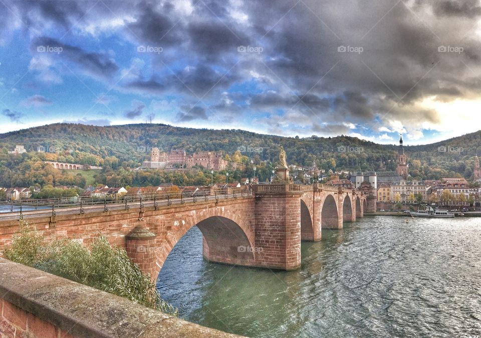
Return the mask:
[[[301,266],[301,195],[297,184],[254,187],[255,256],[258,266],[294,270]]]

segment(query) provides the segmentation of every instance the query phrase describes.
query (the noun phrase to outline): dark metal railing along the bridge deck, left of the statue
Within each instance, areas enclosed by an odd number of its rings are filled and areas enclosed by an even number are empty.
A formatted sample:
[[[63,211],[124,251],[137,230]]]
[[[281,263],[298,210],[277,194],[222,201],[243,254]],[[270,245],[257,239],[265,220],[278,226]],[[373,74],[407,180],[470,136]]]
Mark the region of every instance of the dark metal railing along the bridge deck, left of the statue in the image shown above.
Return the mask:
[[[42,209],[62,209],[62,208],[72,208],[92,206],[92,205],[104,205],[104,209],[108,209],[108,205],[112,204],[124,204],[125,209],[129,208],[130,203],[140,204],[141,207],[144,202],[153,202],[154,206],[158,206],[158,201],[164,201],[167,205],[172,204],[172,201],[180,201],[184,203],[186,201],[196,202],[198,200],[208,200],[209,197],[215,196],[216,199],[226,199],[226,198],[237,198],[243,196],[252,195],[252,190],[249,187],[239,187],[231,188],[228,191],[219,191],[210,193],[210,190],[201,191],[158,191],[153,193],[142,193],[142,194],[106,194],[99,197],[61,197],[61,198],[43,198],[43,199],[18,199],[18,200],[8,200],[0,201],[0,215],[5,215],[10,212],[23,212],[32,210],[42,210]]]

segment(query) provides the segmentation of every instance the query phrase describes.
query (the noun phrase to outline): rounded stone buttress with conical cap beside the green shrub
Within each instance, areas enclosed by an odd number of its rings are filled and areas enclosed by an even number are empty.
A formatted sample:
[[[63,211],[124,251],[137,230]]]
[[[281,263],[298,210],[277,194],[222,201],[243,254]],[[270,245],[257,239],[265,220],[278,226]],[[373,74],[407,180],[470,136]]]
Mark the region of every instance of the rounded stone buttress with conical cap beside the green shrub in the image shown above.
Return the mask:
[[[139,265],[142,272],[150,274],[152,280],[157,277],[155,273],[157,259],[155,243],[155,233],[140,225],[125,236],[125,249],[130,259]]]

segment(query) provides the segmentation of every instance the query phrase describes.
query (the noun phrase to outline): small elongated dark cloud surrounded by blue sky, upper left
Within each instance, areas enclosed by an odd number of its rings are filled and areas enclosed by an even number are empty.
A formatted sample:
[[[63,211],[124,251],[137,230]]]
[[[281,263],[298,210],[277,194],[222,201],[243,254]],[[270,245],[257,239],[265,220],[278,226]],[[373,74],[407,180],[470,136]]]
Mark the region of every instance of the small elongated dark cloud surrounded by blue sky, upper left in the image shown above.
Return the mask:
[[[88,52],[47,36],[34,39],[31,51],[39,54],[48,53],[53,58],[58,57],[73,62],[90,75],[104,79],[111,79],[119,69],[115,61],[106,54]]]

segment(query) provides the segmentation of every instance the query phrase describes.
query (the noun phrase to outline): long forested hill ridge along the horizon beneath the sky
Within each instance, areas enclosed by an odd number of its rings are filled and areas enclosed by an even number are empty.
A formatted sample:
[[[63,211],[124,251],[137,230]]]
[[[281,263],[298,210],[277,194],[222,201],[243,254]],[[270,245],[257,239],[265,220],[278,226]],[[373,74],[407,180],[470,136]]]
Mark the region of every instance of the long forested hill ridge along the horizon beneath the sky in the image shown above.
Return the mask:
[[[0,150],[6,152],[15,144],[24,144],[27,150],[39,146],[59,154],[59,160],[102,165],[108,157],[119,162],[139,163],[148,158],[154,144],[164,151],[185,149],[187,153],[199,150],[223,150],[233,154],[240,149],[243,155],[276,162],[277,144],[283,144],[289,164],[312,165],[321,168],[362,169],[374,166],[376,170],[393,170],[397,145],[376,144],[356,137],[282,137],[239,129],[195,129],[165,124],[128,124],[92,126],[56,123],[0,134]],[[440,148],[441,147],[441,148]],[[442,148],[445,147],[445,148]],[[467,178],[472,174],[473,156],[481,155],[481,131],[465,134],[442,142],[405,146],[411,170],[426,176],[427,167],[460,173]],[[447,151],[442,151],[446,149]],[[413,160],[419,160],[413,161]],[[422,172],[421,172],[422,171]],[[470,173],[471,171],[471,173]]]

